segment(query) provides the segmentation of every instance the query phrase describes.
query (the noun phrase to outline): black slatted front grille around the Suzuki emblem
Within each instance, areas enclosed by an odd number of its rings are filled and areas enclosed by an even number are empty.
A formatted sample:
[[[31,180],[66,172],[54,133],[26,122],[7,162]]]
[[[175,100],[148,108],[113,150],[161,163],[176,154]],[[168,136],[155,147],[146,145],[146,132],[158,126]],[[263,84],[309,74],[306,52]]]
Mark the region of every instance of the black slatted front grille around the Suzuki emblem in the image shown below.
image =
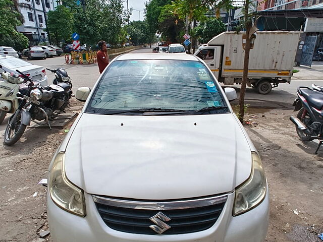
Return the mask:
[[[194,203],[191,203],[191,208],[187,208],[188,206],[179,208],[181,205],[177,204],[176,209],[165,209],[165,206],[161,206],[161,209],[158,209],[158,206],[152,209],[151,206],[147,206],[149,209],[144,209],[145,206],[142,206],[137,209],[124,205],[115,206],[118,204],[106,202],[109,199],[105,200],[102,197],[93,196],[93,198],[96,208],[107,226],[118,231],[138,234],[157,234],[149,227],[155,225],[149,218],[155,216],[158,212],[162,212],[170,218],[165,223],[171,228],[164,231],[163,234],[183,234],[208,229],[219,218],[227,200],[227,196],[222,196],[222,199],[217,201],[216,204],[209,203],[212,205],[208,206],[205,206],[204,203],[203,206],[196,207]]]

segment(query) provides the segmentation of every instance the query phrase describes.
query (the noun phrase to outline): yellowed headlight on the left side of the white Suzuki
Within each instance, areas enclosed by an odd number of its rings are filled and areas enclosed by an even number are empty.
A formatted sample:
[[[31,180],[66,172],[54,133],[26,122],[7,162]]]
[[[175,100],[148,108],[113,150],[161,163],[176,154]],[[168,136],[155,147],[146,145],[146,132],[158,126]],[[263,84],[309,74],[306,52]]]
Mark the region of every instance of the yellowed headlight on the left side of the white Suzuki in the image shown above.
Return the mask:
[[[84,217],[86,214],[83,190],[71,183],[65,174],[65,153],[55,157],[49,177],[49,194],[60,208]]]

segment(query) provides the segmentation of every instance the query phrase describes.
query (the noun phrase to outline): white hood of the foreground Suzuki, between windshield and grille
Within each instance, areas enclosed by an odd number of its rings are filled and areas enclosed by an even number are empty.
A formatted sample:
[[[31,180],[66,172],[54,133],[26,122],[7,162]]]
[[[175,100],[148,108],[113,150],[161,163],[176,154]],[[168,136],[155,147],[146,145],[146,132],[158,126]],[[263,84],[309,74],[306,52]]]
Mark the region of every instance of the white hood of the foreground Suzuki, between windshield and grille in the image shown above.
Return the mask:
[[[232,113],[83,113],[65,160],[68,179],[89,194],[149,200],[231,192],[251,172],[250,147]]]

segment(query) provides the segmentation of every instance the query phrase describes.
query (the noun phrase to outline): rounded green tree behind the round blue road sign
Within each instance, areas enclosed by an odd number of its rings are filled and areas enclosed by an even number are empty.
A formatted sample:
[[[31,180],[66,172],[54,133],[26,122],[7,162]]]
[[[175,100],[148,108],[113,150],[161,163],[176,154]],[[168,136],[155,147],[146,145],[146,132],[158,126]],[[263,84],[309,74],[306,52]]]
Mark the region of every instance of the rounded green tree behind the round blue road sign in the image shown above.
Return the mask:
[[[62,40],[70,40],[74,29],[74,17],[71,10],[63,5],[59,5],[55,11],[49,11],[47,29],[57,45]]]

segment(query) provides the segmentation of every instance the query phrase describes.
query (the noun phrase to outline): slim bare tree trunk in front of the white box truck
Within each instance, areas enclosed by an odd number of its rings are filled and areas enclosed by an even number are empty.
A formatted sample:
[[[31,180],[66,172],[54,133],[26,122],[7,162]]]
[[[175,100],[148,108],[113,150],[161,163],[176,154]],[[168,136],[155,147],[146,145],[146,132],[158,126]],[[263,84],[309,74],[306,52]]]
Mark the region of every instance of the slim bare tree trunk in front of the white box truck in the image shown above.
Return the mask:
[[[239,120],[243,123],[244,117],[244,95],[246,93],[246,85],[248,80],[248,69],[249,69],[249,53],[250,53],[250,29],[252,28],[251,20],[249,20],[249,0],[246,0],[246,4],[244,7],[244,19],[245,19],[245,27],[246,27],[246,45],[244,49],[244,62],[243,62],[243,73],[242,73],[242,83],[240,89],[240,98],[239,98]]]

